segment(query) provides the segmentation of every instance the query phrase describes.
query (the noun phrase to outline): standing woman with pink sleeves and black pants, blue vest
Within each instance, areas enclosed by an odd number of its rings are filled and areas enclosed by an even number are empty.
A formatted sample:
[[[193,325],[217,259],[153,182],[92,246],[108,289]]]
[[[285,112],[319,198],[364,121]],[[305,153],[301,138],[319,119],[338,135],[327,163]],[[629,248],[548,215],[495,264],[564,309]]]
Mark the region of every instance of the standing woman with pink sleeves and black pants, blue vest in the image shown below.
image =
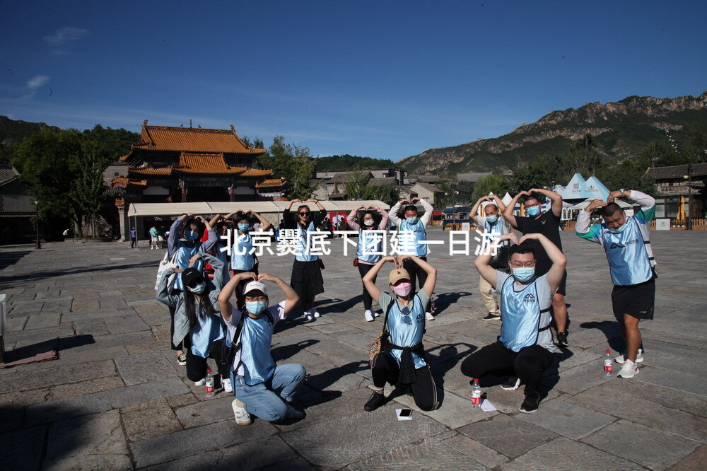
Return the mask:
[[[358,211],[363,211],[359,214]],[[358,221],[357,221],[358,219]],[[360,206],[352,209],[349,216],[346,216],[346,222],[353,231],[358,231],[358,245],[356,246],[356,261],[354,264],[358,266],[358,273],[361,274],[361,282],[366,273],[378,263],[382,255],[380,254],[382,247],[382,238],[385,234],[375,233],[373,231],[385,231],[388,224],[388,214],[385,209],[369,206]],[[373,278],[375,283],[375,277]],[[366,286],[363,286],[363,317],[368,322],[373,321],[373,318],[378,317],[378,313],[372,309],[373,298],[368,294]]]

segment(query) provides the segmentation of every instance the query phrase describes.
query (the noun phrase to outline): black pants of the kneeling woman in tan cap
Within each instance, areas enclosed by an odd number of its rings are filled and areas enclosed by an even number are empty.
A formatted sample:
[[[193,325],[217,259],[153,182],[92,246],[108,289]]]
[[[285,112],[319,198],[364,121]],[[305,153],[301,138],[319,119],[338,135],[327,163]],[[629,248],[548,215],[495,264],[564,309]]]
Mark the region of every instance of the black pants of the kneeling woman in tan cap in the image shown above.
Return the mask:
[[[373,357],[373,366],[370,368],[371,376],[373,377],[373,385],[376,388],[382,388],[385,383],[397,383],[397,378],[400,373],[400,368],[395,360],[395,357],[390,354],[390,351]],[[415,404],[422,410],[433,410],[439,407],[437,402],[437,386],[432,378],[432,371],[429,365],[422,368],[415,368],[417,379],[410,386],[412,397],[415,399]]]

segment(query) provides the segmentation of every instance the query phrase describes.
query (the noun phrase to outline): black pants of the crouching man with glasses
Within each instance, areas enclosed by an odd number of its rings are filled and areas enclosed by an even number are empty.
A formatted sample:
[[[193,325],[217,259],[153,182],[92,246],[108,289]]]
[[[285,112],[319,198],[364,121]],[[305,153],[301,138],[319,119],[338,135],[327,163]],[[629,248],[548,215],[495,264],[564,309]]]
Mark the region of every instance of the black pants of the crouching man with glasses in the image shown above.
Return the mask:
[[[537,397],[542,373],[552,361],[553,354],[539,345],[516,353],[503,347],[501,342],[494,342],[467,356],[462,361],[462,374],[470,378],[481,378],[487,373],[518,376],[525,384],[525,395]]]

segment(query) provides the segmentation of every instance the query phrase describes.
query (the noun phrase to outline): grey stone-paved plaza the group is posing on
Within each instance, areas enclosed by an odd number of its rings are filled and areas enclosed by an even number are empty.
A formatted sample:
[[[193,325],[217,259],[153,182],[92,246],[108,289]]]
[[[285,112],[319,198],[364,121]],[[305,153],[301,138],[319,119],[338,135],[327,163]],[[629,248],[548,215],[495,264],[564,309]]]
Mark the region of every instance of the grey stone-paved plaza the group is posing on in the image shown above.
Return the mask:
[[[368,349],[382,317],[363,320],[361,279],[333,239],[324,257],[322,317],[299,315],[276,328],[279,363],[305,366],[298,395],[307,416],[237,426],[222,390],[186,378],[170,351],[170,316],[155,300],[164,250],[126,243],[46,243],[0,248],[0,293],[8,295],[6,351],[42,342],[59,358],[0,369],[0,463],[25,469],[319,470],[695,470],[707,463],[707,233],[653,231],[658,262],[655,320],[642,322],[645,361],[633,379],[603,375],[606,349],[624,349],[611,310],[604,251],[571,231],[569,343],[543,380],[534,414],[518,407],[522,388],[488,378],[472,409],[460,363],[496,340],[473,254],[450,256],[448,233],[430,228],[428,261],[438,268],[436,319],[424,344],[442,407],[416,409],[386,388],[390,401],[364,412],[370,395]],[[473,240],[473,238],[472,238]],[[472,247],[473,252],[473,247]],[[260,257],[260,271],[290,279],[292,255]],[[387,286],[388,264],[378,277]],[[701,268],[702,267],[702,268]],[[276,286],[272,302],[279,301]],[[21,351],[21,350],[20,350]],[[211,363],[213,365],[213,363]],[[614,368],[615,371],[618,368]],[[395,409],[414,409],[398,421]]]

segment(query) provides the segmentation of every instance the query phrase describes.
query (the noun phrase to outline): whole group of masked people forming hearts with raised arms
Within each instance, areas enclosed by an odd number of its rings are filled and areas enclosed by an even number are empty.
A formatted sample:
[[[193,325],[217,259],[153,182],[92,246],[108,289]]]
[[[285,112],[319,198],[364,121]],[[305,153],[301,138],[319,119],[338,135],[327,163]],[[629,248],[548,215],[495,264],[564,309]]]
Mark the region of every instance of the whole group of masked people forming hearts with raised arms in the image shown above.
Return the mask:
[[[540,210],[542,197],[551,201],[549,211]],[[618,198],[640,209],[626,216],[614,203]],[[513,214],[520,199],[525,203],[525,216]],[[416,203],[423,209],[421,214]],[[312,211],[311,205],[319,211]],[[493,233],[498,248],[505,248],[498,252],[505,252],[507,258],[499,262],[498,255],[481,252],[474,260],[482,299],[489,308],[484,320],[500,318],[501,335],[496,342],[467,356],[461,371],[471,378],[507,378],[501,384],[507,390],[525,385],[525,399],[520,405],[525,413],[538,408],[540,380],[553,364],[556,346],[568,346],[563,298],[567,261],[559,240],[561,207],[562,199],[556,192],[532,188],[520,192],[508,207],[497,197],[481,198],[470,215]],[[479,209],[484,216],[477,214]],[[232,407],[237,424],[251,424],[254,415],[267,421],[301,419],[305,414],[293,401],[305,380],[305,369],[296,364],[277,365],[270,349],[274,326],[296,306],[309,320],[320,316],[315,296],[324,291],[323,262],[308,250],[307,233],[316,230],[326,211],[315,199],[294,199],[286,207],[285,228],[298,230],[301,244],[289,283],[259,272],[257,257],[250,257],[247,263],[240,259],[234,262],[234,257],[252,248],[252,223],[267,222],[252,211],[248,213],[240,211],[236,215],[239,232],[230,260],[216,255],[216,251],[223,251],[218,250],[219,238],[211,223],[200,216],[180,216],[170,228],[168,240],[168,255],[174,257],[175,267],[161,274],[157,298],[170,306],[173,349],[183,344],[180,349],[185,350],[186,358],[179,360],[180,364],[186,360],[189,379],[203,384],[206,358],[216,360],[224,389],[235,395]],[[364,405],[366,411],[387,402],[385,383],[409,391],[420,409],[440,407],[422,343],[426,322],[434,320],[430,300],[437,279],[437,269],[427,261],[426,226],[431,214],[428,202],[411,199],[401,200],[390,213],[380,207],[358,207],[347,217],[349,227],[358,231],[354,265],[363,285],[363,318],[370,322],[383,315],[387,336],[383,348],[370,357],[373,392]],[[592,225],[592,214],[600,216],[600,223]],[[638,322],[653,318],[656,274],[648,236],[654,214],[652,197],[622,189],[611,192],[606,201],[591,202],[577,219],[578,235],[602,245],[609,261],[614,284],[612,306],[626,340],[625,353],[615,359],[622,364],[620,378],[638,373],[637,364],[643,361]],[[400,255],[396,257],[382,255],[380,235],[372,232],[384,229],[388,219],[399,233],[406,231],[409,236],[407,245],[399,245]],[[511,227],[522,236],[513,233]],[[223,226],[218,231],[223,232]],[[199,240],[202,233],[206,234],[204,241]],[[376,279],[388,262],[393,266],[387,290],[381,290]],[[205,272],[206,264],[210,270]],[[269,284],[279,288],[284,301],[270,301]],[[373,302],[381,312],[373,309]],[[550,330],[553,318],[556,339]]]

